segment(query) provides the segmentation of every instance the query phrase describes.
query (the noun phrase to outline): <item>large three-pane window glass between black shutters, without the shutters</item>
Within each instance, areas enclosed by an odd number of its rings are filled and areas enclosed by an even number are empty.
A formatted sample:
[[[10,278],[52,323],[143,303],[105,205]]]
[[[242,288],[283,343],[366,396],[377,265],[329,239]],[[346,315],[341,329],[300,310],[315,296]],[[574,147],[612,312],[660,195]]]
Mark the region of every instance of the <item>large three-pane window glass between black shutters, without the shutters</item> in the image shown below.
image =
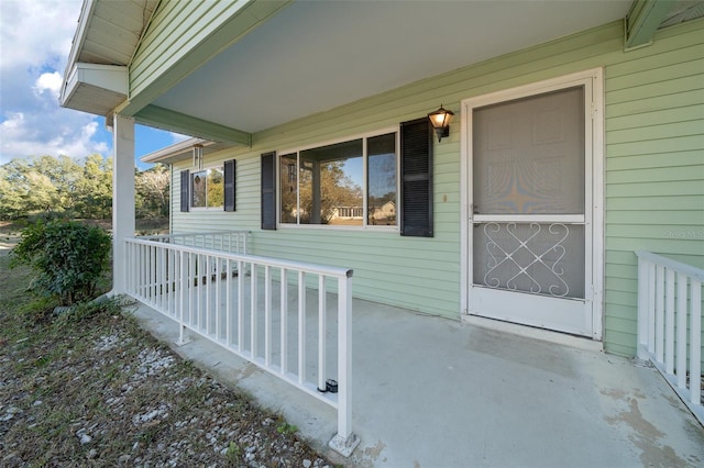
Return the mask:
[[[282,224],[396,226],[396,133],[279,157]]]

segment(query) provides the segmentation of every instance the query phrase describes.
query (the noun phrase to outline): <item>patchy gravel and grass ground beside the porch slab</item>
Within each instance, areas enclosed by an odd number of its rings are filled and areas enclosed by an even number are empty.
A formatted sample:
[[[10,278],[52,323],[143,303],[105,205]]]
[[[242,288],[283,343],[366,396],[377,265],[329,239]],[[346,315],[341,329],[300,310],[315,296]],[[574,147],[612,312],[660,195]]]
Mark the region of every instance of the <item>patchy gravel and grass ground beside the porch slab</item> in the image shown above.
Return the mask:
[[[55,317],[28,280],[0,286],[0,466],[332,466],[113,303]]]

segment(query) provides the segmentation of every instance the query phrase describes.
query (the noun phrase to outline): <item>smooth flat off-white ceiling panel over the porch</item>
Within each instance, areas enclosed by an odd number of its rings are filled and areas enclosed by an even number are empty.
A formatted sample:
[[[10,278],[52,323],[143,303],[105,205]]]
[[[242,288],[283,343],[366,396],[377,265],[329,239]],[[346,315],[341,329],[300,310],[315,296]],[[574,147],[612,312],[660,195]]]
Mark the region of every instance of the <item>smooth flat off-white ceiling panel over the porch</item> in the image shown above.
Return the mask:
[[[253,133],[623,19],[630,3],[294,2],[154,104]]]

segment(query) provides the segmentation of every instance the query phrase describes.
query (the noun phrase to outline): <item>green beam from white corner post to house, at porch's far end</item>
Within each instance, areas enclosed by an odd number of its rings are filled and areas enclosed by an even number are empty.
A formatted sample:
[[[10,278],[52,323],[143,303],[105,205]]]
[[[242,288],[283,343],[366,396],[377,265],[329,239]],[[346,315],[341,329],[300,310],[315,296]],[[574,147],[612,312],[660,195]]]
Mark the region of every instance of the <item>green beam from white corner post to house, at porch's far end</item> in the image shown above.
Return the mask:
[[[144,125],[155,126],[170,132],[193,135],[216,142],[237,143],[252,146],[252,134],[237,129],[230,129],[215,122],[169,111],[157,105],[146,105],[134,119]]]

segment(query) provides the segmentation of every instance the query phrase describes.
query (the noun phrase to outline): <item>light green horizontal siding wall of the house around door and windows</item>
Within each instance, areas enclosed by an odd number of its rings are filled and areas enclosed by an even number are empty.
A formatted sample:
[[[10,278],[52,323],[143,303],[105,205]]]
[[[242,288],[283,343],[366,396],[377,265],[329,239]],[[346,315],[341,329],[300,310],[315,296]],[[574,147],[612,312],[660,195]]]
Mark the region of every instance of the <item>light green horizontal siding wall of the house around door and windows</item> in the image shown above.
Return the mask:
[[[435,146],[435,237],[326,226],[260,230],[260,155],[387,129],[442,103],[604,67],[604,345],[635,355],[636,249],[704,267],[704,21],[658,32],[651,46],[624,52],[623,24],[607,24],[415,82],[254,135],[237,159],[237,212],[174,205],[173,231],[246,229],[252,253],[354,269],[355,297],[460,316],[460,121]],[[174,166],[173,193],[179,193]]]

